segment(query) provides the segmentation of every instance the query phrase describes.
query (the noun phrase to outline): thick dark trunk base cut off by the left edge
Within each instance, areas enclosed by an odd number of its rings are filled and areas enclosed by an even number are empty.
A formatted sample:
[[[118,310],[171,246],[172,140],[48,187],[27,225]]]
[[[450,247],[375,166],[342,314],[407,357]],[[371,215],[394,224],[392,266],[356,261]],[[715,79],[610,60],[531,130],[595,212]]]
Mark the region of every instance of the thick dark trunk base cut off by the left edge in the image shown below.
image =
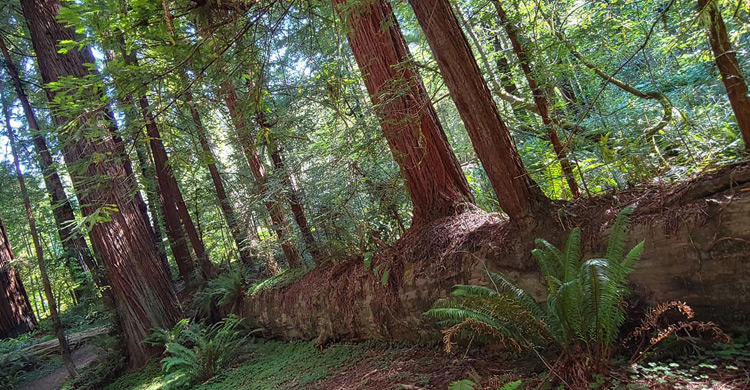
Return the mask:
[[[18,337],[36,328],[29,297],[14,260],[5,223],[0,216],[0,339]]]

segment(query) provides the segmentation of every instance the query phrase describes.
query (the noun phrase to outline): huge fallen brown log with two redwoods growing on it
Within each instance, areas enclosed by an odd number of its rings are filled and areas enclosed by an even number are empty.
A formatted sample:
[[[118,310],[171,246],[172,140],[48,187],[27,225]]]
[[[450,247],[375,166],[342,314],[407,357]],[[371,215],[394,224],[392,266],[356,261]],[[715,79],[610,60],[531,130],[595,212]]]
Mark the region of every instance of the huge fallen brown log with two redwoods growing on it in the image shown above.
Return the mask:
[[[362,257],[315,268],[299,281],[247,297],[241,314],[283,339],[431,341],[440,337],[422,313],[460,283],[484,283],[500,271],[537,297],[541,276],[534,239],[562,245],[581,226],[584,257],[601,255],[608,223],[636,206],[629,245],[646,240],[631,275],[642,307],[684,300],[703,320],[725,329],[750,318],[750,164],[692,181],[650,186],[560,204],[521,229],[499,214],[467,212],[409,231],[366,268]]]

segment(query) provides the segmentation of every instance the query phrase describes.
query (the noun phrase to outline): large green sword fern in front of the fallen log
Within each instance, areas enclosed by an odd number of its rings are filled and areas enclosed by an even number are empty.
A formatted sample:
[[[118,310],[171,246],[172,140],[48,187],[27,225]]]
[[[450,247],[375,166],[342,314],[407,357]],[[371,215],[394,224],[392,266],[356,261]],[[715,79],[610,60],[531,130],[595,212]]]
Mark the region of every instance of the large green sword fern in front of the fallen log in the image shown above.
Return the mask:
[[[451,297],[435,302],[426,314],[453,325],[444,331],[447,348],[459,330],[470,328],[518,349],[553,344],[567,358],[606,365],[625,318],[626,277],[643,250],[641,242],[625,251],[631,213],[625,209],[617,216],[605,258],[581,261],[578,228],[564,250],[537,240],[532,254],[546,281],[544,305],[503,275],[489,273],[491,287],[456,286]]]

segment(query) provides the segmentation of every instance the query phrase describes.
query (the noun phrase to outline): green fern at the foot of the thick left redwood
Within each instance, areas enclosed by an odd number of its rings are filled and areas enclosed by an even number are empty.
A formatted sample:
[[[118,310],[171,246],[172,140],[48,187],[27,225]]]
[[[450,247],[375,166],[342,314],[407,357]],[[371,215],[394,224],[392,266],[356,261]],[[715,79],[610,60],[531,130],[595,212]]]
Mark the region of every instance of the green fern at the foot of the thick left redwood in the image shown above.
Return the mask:
[[[164,380],[175,388],[213,378],[247,357],[252,347],[250,333],[242,329],[242,319],[234,315],[208,327],[187,326],[183,320],[171,331],[158,331],[155,338],[172,340],[166,344],[161,362],[167,373]]]

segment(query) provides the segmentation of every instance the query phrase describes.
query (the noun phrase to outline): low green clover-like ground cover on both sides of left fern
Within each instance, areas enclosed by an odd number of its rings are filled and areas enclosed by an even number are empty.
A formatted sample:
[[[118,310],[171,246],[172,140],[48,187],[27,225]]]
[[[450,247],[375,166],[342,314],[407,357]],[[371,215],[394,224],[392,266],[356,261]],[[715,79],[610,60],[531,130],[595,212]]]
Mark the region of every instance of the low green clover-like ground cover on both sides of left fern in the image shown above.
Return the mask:
[[[253,349],[250,359],[219,373],[194,390],[305,389],[315,381],[335,375],[357,362],[370,347],[335,344],[318,350],[312,341],[285,343],[267,341]],[[158,361],[139,371],[125,374],[105,390],[169,389]]]

